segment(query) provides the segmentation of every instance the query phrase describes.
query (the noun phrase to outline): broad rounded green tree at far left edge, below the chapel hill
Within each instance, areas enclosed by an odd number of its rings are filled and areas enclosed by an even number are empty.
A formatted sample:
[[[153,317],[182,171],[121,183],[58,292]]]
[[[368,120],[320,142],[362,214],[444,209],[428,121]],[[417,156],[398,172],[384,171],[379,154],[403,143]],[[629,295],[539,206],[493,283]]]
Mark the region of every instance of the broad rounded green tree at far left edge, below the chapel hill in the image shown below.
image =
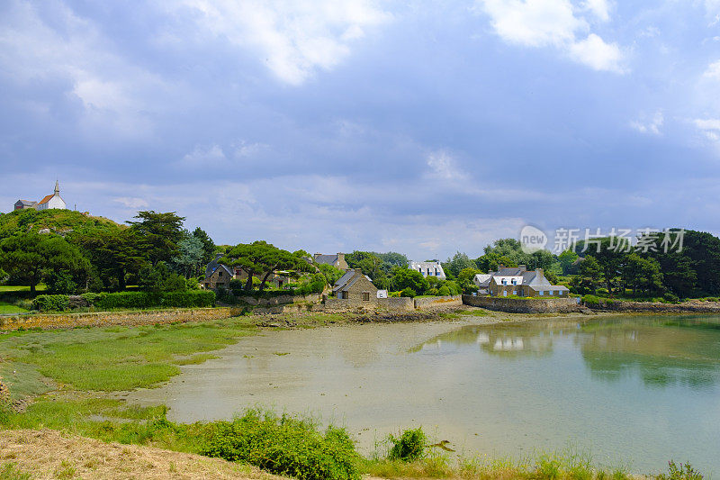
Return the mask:
[[[76,246],[62,237],[28,232],[0,242],[0,268],[30,285],[34,294],[36,285],[49,272],[65,270],[82,276],[89,270],[90,263]]]

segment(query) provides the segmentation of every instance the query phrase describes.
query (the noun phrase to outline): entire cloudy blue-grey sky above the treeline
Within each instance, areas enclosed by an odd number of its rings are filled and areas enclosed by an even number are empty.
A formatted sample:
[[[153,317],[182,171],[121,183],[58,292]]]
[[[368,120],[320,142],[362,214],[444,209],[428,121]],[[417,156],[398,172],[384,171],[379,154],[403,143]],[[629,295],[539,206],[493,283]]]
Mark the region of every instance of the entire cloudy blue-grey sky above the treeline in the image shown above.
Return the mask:
[[[720,0],[0,0],[0,205],[482,254],[720,232]]]

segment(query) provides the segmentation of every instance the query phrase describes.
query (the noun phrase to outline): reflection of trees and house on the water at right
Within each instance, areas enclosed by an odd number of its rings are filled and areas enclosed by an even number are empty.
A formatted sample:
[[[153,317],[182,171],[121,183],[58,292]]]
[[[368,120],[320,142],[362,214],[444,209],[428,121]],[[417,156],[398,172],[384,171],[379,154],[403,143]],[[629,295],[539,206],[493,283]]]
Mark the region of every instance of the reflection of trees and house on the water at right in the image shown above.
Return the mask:
[[[477,344],[501,358],[545,357],[560,339],[572,340],[591,376],[607,382],[638,375],[653,387],[720,384],[720,317],[471,325],[437,335],[410,352]]]

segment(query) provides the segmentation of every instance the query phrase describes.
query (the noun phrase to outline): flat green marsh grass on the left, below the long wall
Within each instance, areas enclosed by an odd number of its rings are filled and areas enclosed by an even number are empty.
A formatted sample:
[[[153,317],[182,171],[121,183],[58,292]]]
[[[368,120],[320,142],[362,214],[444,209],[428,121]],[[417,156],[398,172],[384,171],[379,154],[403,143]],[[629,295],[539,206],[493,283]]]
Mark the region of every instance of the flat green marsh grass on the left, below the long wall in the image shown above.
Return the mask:
[[[11,392],[17,391],[18,384],[34,379],[34,386],[20,390],[41,393],[37,381],[42,376],[79,390],[111,392],[165,382],[180,373],[178,365],[211,358],[207,354],[188,356],[222,349],[255,331],[247,319],[228,319],[138,328],[12,332],[0,336],[0,357],[7,364],[3,376]]]

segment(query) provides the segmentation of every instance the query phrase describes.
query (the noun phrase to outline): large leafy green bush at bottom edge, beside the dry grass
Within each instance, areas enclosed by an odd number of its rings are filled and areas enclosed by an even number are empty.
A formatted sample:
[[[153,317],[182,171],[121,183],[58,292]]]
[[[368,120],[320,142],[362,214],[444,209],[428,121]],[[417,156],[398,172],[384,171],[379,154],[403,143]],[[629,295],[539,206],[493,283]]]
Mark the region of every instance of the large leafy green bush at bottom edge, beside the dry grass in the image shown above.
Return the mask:
[[[301,480],[359,480],[357,454],[344,429],[274,412],[249,410],[234,421],[213,423],[202,455],[259,466]]]

